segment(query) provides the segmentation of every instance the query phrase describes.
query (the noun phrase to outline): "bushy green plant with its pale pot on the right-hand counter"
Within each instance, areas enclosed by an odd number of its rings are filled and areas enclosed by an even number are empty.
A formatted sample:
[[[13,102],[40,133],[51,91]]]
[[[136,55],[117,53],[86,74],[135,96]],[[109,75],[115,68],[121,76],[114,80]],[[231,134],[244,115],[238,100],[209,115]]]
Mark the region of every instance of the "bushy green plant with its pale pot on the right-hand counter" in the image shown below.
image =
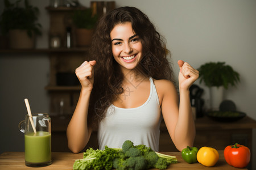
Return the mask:
[[[208,62],[199,67],[200,83],[210,88],[212,110],[217,110],[223,100],[224,88],[236,86],[240,82],[240,74],[225,62]]]

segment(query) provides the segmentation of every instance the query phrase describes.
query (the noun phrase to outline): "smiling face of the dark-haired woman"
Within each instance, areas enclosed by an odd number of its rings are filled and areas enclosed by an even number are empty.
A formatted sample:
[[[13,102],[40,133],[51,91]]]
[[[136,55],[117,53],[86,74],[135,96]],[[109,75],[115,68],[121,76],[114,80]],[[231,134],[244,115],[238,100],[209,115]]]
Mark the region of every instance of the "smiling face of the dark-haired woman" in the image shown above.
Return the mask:
[[[142,43],[131,23],[120,23],[110,32],[112,53],[121,69],[134,69],[142,59]]]

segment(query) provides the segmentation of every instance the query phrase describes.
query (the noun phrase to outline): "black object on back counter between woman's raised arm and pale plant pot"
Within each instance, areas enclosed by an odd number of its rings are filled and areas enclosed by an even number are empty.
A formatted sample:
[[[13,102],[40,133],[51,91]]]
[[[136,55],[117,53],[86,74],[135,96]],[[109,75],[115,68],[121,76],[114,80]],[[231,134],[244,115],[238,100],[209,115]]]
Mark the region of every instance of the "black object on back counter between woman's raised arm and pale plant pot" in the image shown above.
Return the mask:
[[[204,100],[201,99],[201,95],[204,92],[203,88],[200,88],[196,84],[192,84],[192,86],[189,88],[189,91],[191,106],[196,108],[196,117],[203,117]]]

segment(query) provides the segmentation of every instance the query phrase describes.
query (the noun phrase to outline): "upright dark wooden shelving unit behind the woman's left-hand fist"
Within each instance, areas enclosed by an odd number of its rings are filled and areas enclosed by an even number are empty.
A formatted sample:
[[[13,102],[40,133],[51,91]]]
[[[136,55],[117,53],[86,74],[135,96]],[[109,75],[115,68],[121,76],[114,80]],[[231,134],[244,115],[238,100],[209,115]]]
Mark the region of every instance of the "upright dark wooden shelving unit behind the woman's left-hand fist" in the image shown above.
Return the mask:
[[[86,7],[46,7],[49,13],[49,40],[51,35],[55,34],[60,37],[61,48],[48,49],[49,54],[50,74],[49,84],[45,87],[50,96],[50,112],[57,115],[60,114],[60,109],[64,111],[64,115],[69,116],[75,110],[75,105],[79,98],[79,84],[71,84],[63,86],[57,84],[57,73],[71,73],[75,76],[75,69],[87,59],[89,46],[83,48],[76,47],[74,35],[75,26],[72,24],[71,15],[75,10],[83,10]],[[71,27],[72,30],[72,46],[66,48],[65,36],[66,28]],[[50,44],[50,43],[49,43]],[[63,108],[60,108],[60,103],[64,102]]]

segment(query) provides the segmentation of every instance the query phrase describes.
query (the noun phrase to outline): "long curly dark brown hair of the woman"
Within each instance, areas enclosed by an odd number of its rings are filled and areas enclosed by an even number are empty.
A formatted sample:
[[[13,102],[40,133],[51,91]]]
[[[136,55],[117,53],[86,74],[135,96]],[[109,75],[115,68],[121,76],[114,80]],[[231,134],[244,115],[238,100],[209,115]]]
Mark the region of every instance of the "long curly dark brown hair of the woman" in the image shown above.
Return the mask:
[[[112,54],[110,32],[116,24],[126,22],[131,23],[142,42],[143,58],[136,69],[147,77],[174,82],[166,43],[142,11],[135,7],[119,7],[103,15],[97,23],[90,48],[90,59],[97,61],[88,111],[88,124],[94,130],[110,104],[123,92],[123,74]]]

